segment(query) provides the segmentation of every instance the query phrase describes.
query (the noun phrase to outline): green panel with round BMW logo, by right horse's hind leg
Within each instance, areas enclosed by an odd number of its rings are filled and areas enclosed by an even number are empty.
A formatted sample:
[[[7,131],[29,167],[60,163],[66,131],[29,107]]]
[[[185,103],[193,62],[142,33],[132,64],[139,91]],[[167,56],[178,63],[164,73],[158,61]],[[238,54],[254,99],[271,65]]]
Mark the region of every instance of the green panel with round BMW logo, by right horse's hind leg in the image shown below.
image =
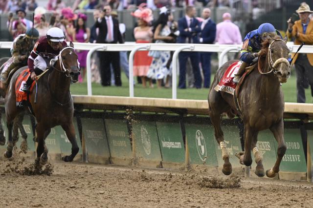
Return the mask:
[[[185,130],[191,164],[218,166],[213,126],[185,124]],[[219,153],[222,157],[222,152]]]

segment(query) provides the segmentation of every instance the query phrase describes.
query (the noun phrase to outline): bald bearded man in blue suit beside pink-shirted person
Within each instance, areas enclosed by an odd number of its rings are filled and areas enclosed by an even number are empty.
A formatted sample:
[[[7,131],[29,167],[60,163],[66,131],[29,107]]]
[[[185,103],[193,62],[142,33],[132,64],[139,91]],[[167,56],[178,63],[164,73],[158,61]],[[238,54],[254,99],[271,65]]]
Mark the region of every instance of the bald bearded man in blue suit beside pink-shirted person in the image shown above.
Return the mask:
[[[211,10],[204,8],[202,17],[204,21],[201,24],[200,43],[213,44],[216,36],[216,24],[211,20]],[[211,83],[211,52],[201,52],[200,60],[204,77],[204,88],[209,88]]]

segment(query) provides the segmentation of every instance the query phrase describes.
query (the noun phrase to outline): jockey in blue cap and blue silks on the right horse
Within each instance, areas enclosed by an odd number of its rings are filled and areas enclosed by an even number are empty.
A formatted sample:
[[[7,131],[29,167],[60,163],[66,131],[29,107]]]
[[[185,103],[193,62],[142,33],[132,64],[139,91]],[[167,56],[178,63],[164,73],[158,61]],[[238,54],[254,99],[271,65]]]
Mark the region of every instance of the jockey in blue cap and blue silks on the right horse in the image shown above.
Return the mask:
[[[234,76],[234,83],[239,82],[240,77],[246,71],[246,66],[250,65],[250,63],[260,55],[259,52],[262,47],[261,43],[265,41],[268,36],[274,38],[276,35],[281,36],[280,32],[270,23],[263,23],[258,29],[252,30],[246,35],[240,51],[240,60],[242,61],[242,64],[240,65],[237,74]]]

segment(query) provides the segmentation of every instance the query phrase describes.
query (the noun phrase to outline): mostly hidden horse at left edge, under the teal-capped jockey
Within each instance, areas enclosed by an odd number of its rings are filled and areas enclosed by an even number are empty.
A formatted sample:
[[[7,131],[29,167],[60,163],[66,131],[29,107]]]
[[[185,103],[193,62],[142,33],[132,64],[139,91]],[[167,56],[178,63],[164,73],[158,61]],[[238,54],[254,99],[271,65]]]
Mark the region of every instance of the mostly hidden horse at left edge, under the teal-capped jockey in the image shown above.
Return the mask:
[[[0,73],[2,72],[2,69],[5,65],[5,63],[9,59],[10,59],[9,57],[3,57],[0,59]],[[11,74],[13,74],[13,73],[10,73],[10,76],[8,77],[8,82],[9,82],[9,79],[11,77]],[[5,94],[6,94],[6,89],[0,89],[0,96],[1,96],[0,104],[4,104]],[[1,117],[2,117],[2,115],[0,112],[0,118]],[[23,118],[24,118],[24,114],[21,113],[15,119],[14,125],[13,125],[13,135],[12,135],[13,138],[12,138],[12,140],[13,140],[13,143],[16,143],[19,140],[19,129],[20,129],[21,134],[22,134],[22,138],[23,138],[23,141],[21,143],[21,147],[24,147],[25,148],[24,150],[27,151],[27,140],[26,140],[27,134],[26,134],[25,129],[22,125]],[[4,130],[2,128],[2,125],[0,124],[0,145],[4,145],[4,144],[5,144],[5,135],[4,135]]]

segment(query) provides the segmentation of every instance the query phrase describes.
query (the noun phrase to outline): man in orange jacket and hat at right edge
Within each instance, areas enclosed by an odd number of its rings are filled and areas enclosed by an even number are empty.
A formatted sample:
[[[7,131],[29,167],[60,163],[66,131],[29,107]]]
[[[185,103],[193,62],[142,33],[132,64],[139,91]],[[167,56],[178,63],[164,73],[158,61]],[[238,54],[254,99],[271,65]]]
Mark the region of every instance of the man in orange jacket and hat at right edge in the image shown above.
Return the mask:
[[[294,38],[294,44],[300,45],[304,42],[305,45],[313,45],[313,21],[310,21],[309,15],[313,13],[310,6],[302,3],[296,10],[300,20],[295,21],[294,15],[288,22],[287,36],[289,39]],[[294,55],[293,55],[294,56]],[[305,103],[305,90],[308,84],[311,85],[313,96],[313,54],[298,53],[294,56],[292,63],[295,64],[297,77],[297,102]]]

